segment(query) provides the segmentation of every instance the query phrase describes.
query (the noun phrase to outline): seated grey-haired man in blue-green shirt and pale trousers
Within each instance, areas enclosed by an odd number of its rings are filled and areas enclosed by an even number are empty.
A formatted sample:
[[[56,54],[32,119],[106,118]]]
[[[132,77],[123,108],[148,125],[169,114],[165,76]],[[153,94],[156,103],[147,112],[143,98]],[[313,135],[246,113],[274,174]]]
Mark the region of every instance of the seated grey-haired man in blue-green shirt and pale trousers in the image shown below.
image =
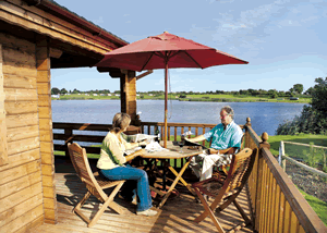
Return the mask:
[[[231,107],[226,106],[220,110],[221,124],[216,125],[211,131],[193,137],[185,138],[190,142],[197,143],[201,140],[211,140],[211,147],[206,154],[193,157],[190,167],[199,181],[211,177],[214,164],[221,159],[222,154],[234,154],[241,147],[243,132],[234,123],[234,111]],[[229,159],[229,157],[227,158]],[[203,161],[201,169],[199,162]]]

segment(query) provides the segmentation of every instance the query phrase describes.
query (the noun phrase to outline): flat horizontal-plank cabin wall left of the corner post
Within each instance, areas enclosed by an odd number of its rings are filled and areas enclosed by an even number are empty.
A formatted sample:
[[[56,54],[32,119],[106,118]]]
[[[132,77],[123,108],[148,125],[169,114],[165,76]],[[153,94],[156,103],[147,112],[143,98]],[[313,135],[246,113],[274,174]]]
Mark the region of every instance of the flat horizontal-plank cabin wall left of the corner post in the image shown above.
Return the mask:
[[[36,45],[4,33],[0,44],[8,145],[0,165],[0,229],[24,232],[45,218]]]

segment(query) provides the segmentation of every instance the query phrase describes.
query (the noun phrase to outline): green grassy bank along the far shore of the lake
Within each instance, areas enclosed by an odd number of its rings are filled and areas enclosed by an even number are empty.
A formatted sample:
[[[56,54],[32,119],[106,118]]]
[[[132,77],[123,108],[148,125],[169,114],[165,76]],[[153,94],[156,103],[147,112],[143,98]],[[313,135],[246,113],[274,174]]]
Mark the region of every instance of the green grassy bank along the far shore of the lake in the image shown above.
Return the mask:
[[[142,99],[160,99],[164,100],[164,95],[140,95],[136,97],[137,100]],[[265,98],[265,97],[253,97],[245,95],[187,95],[185,98],[179,98],[177,95],[169,95],[169,99],[180,100],[180,101],[210,101],[210,102],[299,102],[308,103],[311,98],[299,98],[299,100],[290,100],[289,98]],[[59,100],[113,100],[120,99],[119,96],[86,96],[84,94],[71,94],[65,96],[60,96]],[[52,100],[57,100],[52,98]]]

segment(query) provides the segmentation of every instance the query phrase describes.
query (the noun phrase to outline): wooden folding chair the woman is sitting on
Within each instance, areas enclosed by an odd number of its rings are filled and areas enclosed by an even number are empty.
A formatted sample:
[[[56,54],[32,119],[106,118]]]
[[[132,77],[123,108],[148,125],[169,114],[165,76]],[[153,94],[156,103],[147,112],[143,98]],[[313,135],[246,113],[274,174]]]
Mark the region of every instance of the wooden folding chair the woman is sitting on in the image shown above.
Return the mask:
[[[88,228],[93,226],[98,221],[98,219],[101,217],[107,207],[110,207],[118,213],[122,213],[122,209],[118,206],[118,204],[113,201],[113,198],[125,181],[109,181],[107,179],[100,177],[98,172],[93,173],[87,160],[85,148],[82,148],[76,143],[68,144],[68,147],[76,174],[87,188],[87,193],[84,195],[82,200],[74,207],[73,212],[75,212],[84,221],[86,221]],[[108,196],[104,192],[104,189],[109,187],[114,188]],[[85,201],[89,198],[90,195],[94,195],[98,200],[100,200],[104,204],[93,219],[88,219],[81,211],[82,206],[85,204]]]

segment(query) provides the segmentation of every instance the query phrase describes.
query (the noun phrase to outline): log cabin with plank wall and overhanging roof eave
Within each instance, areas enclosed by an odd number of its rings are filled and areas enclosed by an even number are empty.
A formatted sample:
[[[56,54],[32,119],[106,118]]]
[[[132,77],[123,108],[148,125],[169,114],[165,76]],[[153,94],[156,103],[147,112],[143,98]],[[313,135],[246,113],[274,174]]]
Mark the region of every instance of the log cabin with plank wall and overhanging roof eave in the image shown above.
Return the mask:
[[[0,1],[0,232],[25,232],[57,222],[50,68],[128,42],[49,0]]]

